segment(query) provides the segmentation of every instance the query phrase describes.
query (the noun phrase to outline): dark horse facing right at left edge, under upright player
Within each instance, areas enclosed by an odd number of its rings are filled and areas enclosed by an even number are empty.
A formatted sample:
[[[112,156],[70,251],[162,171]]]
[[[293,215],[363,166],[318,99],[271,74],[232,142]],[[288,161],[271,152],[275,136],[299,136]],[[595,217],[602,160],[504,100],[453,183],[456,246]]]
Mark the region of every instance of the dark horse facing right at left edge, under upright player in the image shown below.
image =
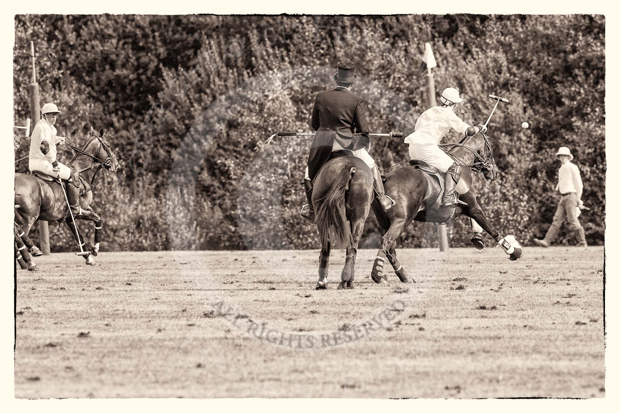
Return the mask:
[[[78,219],[90,220],[95,224],[94,244],[90,250],[84,245],[84,238],[79,235],[78,228],[73,225],[71,215],[69,214],[69,207],[58,180],[45,180],[34,175],[16,173],[15,204],[20,206],[17,210],[19,217],[16,218],[20,218],[21,222],[19,224],[26,235],[30,232],[30,228],[32,228],[37,219],[58,222],[64,220],[76,240],[79,240],[81,245],[84,246],[84,250],[89,250],[92,255],[96,256],[97,252],[99,252],[103,225],[101,218],[91,207],[91,185],[100,167],[115,172],[118,169],[118,162],[104,135],[104,129],[100,129],[99,133],[97,133],[95,129],[91,128],[89,135],[79,148],[72,146],[68,142],[67,144],[76,152],[76,155],[66,165],[77,168],[82,178],[80,206],[84,210],[91,211],[88,215],[79,215]],[[86,264],[95,264],[95,260],[91,255],[84,256],[84,259],[86,259]]]

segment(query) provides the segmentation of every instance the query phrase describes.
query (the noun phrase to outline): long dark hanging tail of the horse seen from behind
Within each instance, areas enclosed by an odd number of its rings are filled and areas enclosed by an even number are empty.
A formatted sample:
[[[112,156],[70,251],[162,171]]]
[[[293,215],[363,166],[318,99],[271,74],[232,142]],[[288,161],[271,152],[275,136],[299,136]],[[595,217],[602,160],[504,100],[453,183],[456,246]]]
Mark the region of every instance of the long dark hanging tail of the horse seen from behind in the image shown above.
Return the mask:
[[[330,228],[333,228],[332,245],[350,245],[353,243],[351,227],[347,222],[347,207],[345,205],[345,192],[349,188],[349,182],[353,178],[355,168],[343,168],[336,176],[331,188],[320,200],[316,211],[316,223],[321,233],[322,245],[327,245]]]

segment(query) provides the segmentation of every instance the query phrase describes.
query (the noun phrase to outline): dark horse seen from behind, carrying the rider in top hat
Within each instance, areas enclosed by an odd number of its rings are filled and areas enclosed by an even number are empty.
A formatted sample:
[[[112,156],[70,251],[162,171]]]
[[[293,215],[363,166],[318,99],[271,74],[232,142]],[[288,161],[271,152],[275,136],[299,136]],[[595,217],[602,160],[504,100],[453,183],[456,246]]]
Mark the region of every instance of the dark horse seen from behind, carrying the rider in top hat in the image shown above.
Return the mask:
[[[373,201],[373,174],[361,159],[334,152],[314,180],[312,205],[321,238],[319,281],[327,289],[327,269],[332,241],[347,246],[347,258],[338,289],[353,289],[355,256],[366,217]]]

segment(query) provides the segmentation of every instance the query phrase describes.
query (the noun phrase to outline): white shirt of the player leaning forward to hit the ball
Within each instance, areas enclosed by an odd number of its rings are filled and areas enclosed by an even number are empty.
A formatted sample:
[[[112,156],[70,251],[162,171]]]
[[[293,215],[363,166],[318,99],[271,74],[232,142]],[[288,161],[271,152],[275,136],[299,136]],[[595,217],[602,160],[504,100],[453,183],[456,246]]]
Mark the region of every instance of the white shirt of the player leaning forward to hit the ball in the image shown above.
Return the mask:
[[[435,106],[425,110],[415,123],[415,132],[405,137],[405,144],[438,145],[450,130],[465,133],[469,125],[463,122],[451,108]]]

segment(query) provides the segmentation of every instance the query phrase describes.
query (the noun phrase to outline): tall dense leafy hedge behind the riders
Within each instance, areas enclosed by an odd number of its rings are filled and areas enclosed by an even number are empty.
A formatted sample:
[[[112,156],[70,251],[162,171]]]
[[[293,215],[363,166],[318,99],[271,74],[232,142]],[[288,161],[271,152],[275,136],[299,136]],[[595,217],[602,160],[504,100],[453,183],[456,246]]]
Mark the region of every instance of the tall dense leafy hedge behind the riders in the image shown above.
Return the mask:
[[[94,186],[104,251],[318,248],[316,227],[298,216],[311,139],[262,142],[310,130],[314,96],[333,87],[339,61],[356,63],[353,93],[369,103],[373,131],[411,133],[427,108],[430,41],[436,90],[459,89],[464,121],[484,123],[489,93],[510,99],[489,128],[500,178],[476,178],[497,230],[523,245],[544,235],[556,207],[554,154],[568,146],[591,208],[580,220],[588,243],[602,245],[604,33],[603,15],[17,15],[14,121],[30,117],[32,40],[41,102],[63,111],[59,134],[79,141],[105,128],[122,165]],[[16,159],[27,155],[22,142]],[[407,145],[374,140],[371,155],[386,168],[407,159]],[[81,225],[89,237],[91,227]],[[50,233],[52,251],[73,250],[64,224]],[[469,246],[468,220],[448,235]],[[378,240],[371,216],[361,246]],[[401,243],[437,240],[414,223]]]

